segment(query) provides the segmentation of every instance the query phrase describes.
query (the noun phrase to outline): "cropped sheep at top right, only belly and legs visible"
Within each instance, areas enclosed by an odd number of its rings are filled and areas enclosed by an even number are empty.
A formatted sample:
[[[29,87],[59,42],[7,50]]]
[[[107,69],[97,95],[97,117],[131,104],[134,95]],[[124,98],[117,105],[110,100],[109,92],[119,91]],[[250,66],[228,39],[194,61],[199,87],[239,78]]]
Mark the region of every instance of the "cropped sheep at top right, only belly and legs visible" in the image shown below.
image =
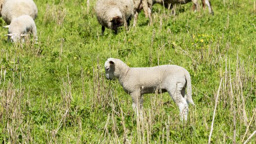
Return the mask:
[[[153,0],[153,5],[155,3],[159,3],[159,4],[163,4],[165,6],[165,8],[168,8],[168,5],[174,5],[174,4],[186,4],[188,2],[193,2],[193,10],[197,9],[198,5],[197,5],[197,0]],[[208,9],[209,9],[209,13],[210,14],[214,14],[212,11],[212,6],[211,3],[209,2],[209,0],[202,0],[202,6],[205,8],[205,4],[207,5]]]

